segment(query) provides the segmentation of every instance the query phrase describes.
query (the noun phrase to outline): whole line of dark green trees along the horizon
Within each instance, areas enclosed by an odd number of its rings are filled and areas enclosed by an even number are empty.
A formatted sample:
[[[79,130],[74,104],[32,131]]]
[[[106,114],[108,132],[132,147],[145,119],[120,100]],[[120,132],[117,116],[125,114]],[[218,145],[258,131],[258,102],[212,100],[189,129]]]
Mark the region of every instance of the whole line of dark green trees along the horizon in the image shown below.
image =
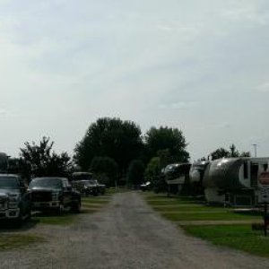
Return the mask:
[[[101,117],[91,123],[76,144],[73,158],[67,152],[54,152],[53,145],[48,137],[39,143],[24,143],[20,158],[11,159],[9,169],[19,169],[24,178],[68,177],[75,170],[91,171],[108,186],[115,182],[139,185],[154,180],[169,163],[190,159],[186,138],[178,128],[152,126],[142,134],[133,121],[117,117]],[[230,151],[220,148],[211,153],[212,159],[240,155],[250,156],[249,152],[239,153],[233,144]]]

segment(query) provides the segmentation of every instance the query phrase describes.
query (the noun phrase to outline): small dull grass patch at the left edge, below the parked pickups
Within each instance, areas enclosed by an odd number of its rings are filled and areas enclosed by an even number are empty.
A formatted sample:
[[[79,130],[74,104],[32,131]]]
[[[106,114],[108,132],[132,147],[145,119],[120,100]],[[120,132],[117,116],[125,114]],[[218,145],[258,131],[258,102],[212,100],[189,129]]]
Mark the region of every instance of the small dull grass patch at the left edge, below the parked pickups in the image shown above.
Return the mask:
[[[45,239],[32,234],[2,234],[0,235],[0,251],[27,247],[32,244],[42,243],[45,241]]]

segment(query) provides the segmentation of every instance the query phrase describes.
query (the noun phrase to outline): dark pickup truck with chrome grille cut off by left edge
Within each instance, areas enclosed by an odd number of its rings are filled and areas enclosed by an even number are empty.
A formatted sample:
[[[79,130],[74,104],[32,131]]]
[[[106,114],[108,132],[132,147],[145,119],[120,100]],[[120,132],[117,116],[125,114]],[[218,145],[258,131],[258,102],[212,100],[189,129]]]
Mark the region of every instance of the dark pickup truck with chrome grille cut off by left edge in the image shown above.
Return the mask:
[[[0,175],[0,219],[21,223],[30,218],[30,194],[22,178],[17,175]]]

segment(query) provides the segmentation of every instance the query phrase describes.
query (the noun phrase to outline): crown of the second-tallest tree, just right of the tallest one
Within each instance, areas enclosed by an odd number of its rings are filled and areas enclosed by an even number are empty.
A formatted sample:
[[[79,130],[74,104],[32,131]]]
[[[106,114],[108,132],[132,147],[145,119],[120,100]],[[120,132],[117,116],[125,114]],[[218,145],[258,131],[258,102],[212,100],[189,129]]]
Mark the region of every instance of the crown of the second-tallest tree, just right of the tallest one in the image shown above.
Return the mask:
[[[165,151],[172,162],[187,162],[189,160],[186,139],[178,128],[152,127],[145,134],[145,145],[150,159],[158,156],[158,152]]]

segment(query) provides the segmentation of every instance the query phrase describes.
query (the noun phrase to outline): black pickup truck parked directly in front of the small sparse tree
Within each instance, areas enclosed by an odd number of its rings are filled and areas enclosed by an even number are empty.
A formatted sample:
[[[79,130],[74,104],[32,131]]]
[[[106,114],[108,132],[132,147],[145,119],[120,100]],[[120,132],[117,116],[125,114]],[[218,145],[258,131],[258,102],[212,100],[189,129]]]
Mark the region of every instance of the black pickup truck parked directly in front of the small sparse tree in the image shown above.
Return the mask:
[[[65,209],[75,213],[81,210],[81,194],[72,189],[67,178],[33,178],[29,191],[35,210],[55,210],[58,213],[63,213]]]

